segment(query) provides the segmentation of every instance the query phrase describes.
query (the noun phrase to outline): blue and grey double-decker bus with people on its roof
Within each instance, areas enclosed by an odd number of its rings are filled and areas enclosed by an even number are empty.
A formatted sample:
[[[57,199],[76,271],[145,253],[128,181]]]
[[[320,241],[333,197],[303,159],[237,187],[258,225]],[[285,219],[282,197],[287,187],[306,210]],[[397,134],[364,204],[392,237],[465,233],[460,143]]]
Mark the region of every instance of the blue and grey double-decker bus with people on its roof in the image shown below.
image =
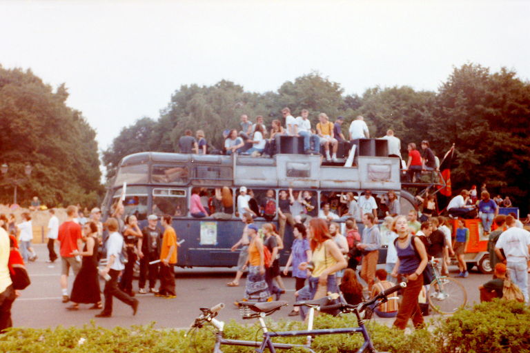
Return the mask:
[[[240,239],[244,228],[235,213],[237,207],[223,219],[195,218],[189,212],[192,188],[202,188],[203,197],[208,198],[213,196],[215,188],[226,186],[232,192],[234,206],[242,186],[253,190],[257,203],[267,190],[274,191],[277,201],[281,190],[291,188],[293,192],[311,191],[318,205],[324,199],[333,205],[342,193],[356,192],[360,196],[364,190],[371,190],[379,203],[377,195],[393,190],[400,201],[401,214],[415,208],[413,195],[402,190],[399,158],[361,155],[356,157],[353,167],[326,164],[320,156],[305,154],[276,154],[271,158],[163,152],[130,154],[119,163],[102,209],[107,216],[110,214],[126,183],[126,215],[135,214],[141,225],[146,224],[148,214],[173,216],[179,241],[184,240],[178,252],[178,266],[232,267],[237,264],[238,254],[230,248]],[[379,218],[384,218],[384,214]],[[255,219],[257,225],[266,222],[262,217]],[[277,215],[272,222],[277,225]],[[292,243],[292,228],[287,225],[281,263],[286,262]],[[385,254],[386,251],[380,254],[383,261]]]

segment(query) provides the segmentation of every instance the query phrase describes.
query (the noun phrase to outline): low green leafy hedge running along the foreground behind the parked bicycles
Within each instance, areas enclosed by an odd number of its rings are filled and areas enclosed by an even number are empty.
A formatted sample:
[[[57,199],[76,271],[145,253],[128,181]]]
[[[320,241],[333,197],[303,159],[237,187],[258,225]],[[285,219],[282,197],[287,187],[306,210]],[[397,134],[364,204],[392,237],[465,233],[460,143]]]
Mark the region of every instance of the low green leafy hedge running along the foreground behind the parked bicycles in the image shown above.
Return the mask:
[[[222,315],[221,315],[222,317]],[[333,317],[322,315],[315,328],[349,327],[357,325],[352,315]],[[298,321],[268,321],[271,330],[302,330]],[[453,316],[444,316],[424,330],[405,334],[400,330],[370,322],[369,331],[378,351],[404,352],[530,352],[530,310],[521,303],[495,301],[460,310]],[[230,321],[225,336],[232,339],[259,339],[256,325],[239,325]],[[0,352],[14,353],[175,353],[211,352],[214,343],[213,328],[206,326],[195,334],[184,337],[184,332],[155,330],[153,324],[115,327],[112,330],[97,327],[92,322],[84,327],[56,327],[37,330],[14,328],[0,336]],[[275,339],[290,343],[304,343],[304,337]],[[316,352],[355,352],[362,343],[360,334],[317,336]],[[253,352],[253,348],[223,346],[223,351]],[[297,350],[298,351],[298,350]],[[302,352],[302,351],[300,351]]]

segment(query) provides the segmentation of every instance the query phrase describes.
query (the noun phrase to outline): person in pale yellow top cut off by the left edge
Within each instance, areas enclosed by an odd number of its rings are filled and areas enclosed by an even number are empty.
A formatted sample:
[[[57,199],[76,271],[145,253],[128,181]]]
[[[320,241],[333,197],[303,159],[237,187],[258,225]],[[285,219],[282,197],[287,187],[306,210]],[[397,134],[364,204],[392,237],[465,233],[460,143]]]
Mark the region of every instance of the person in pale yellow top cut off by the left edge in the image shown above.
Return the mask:
[[[8,232],[0,227],[0,334],[12,327],[11,306],[16,298],[8,268],[9,253]]]

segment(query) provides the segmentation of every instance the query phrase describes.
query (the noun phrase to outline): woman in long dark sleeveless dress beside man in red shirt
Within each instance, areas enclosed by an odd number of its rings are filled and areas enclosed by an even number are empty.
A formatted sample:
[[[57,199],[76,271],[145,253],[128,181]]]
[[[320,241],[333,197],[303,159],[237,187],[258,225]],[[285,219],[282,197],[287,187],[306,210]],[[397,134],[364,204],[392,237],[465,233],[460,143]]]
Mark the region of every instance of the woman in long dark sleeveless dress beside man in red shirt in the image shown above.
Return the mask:
[[[97,225],[90,221],[83,226],[83,240],[85,246],[82,252],[74,250],[75,256],[83,256],[81,270],[77,273],[70,294],[72,305],[66,307],[68,310],[79,310],[79,303],[93,304],[90,309],[101,309],[101,290],[99,289],[99,277],[97,272]]]

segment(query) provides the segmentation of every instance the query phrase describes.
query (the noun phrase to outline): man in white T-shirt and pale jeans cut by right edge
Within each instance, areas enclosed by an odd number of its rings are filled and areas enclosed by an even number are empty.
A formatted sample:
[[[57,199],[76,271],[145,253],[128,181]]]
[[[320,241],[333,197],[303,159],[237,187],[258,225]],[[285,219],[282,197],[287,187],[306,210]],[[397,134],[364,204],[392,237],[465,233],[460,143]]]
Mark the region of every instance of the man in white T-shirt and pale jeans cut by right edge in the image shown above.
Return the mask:
[[[518,285],[524,301],[528,303],[528,261],[530,259],[530,232],[516,227],[516,219],[513,216],[506,217],[508,229],[500,234],[495,244],[495,254],[506,263],[506,268],[510,270],[510,277],[513,283]],[[504,250],[506,259],[500,250]]]

